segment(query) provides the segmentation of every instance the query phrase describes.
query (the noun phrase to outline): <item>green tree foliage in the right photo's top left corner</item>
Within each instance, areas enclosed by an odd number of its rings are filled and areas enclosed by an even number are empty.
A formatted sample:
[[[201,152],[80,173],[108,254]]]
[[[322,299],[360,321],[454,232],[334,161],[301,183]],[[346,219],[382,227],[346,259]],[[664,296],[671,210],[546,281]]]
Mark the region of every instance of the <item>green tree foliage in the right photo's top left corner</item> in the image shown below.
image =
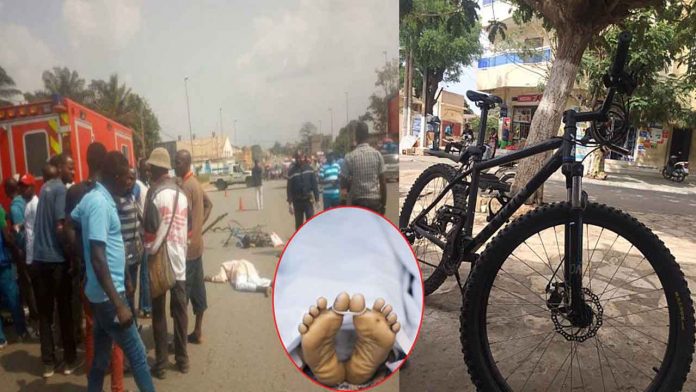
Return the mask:
[[[477,8],[472,0],[412,0],[401,17],[401,46],[413,53],[419,97],[425,79],[427,113],[432,114],[439,83],[459,81],[463,67],[482,53]]]

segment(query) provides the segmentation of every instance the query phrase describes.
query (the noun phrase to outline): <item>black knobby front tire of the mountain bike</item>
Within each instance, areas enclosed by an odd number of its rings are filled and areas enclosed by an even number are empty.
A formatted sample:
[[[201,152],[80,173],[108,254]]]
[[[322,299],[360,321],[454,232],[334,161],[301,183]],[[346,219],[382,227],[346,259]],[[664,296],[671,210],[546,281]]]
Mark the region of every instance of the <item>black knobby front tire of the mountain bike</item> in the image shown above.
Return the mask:
[[[486,327],[489,295],[499,268],[502,267],[508,255],[529,236],[548,229],[554,222],[562,224],[567,221],[570,211],[568,203],[555,203],[539,207],[523,215],[509,224],[489,243],[479,262],[474,266],[463,293],[460,338],[469,375],[479,390],[511,390],[499,372],[499,363],[492,357]],[[653,369],[655,379],[647,390],[681,390],[689,373],[694,352],[694,309],[684,274],[674,256],[650,229],[630,215],[612,207],[590,203],[584,210],[583,220],[588,224],[607,228],[617,236],[621,235],[632,247],[635,246],[640,250],[645,259],[650,262],[663,286],[670,328],[660,369]],[[631,301],[631,303],[634,302]],[[599,348],[597,350],[599,355]],[[541,355],[543,356],[544,353]],[[602,382],[604,382],[604,376],[602,376]]]

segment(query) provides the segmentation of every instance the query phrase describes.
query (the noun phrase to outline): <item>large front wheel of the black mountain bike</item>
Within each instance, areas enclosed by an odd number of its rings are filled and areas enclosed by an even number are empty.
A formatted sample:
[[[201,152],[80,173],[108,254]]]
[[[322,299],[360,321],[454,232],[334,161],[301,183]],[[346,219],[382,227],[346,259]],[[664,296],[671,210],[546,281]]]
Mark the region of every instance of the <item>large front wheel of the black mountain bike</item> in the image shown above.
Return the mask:
[[[616,209],[583,212],[583,296],[564,306],[567,203],[528,213],[481,255],[461,313],[464,359],[485,391],[678,391],[694,350],[684,275],[647,227]]]

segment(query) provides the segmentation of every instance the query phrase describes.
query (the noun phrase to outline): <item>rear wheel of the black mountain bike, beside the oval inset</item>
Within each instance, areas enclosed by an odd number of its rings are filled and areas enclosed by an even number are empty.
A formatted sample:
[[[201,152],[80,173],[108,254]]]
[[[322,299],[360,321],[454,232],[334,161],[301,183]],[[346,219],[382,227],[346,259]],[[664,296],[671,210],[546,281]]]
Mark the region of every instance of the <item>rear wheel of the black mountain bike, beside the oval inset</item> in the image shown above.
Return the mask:
[[[411,225],[412,220],[421,211],[435,201],[456,175],[457,171],[454,167],[442,163],[430,166],[421,173],[411,186],[401,208],[399,227],[402,231]],[[442,242],[447,241],[447,233],[451,229],[451,224],[438,224],[437,211],[445,205],[464,209],[466,188],[463,185],[455,185],[425,216],[426,224],[433,228],[437,226],[437,237]],[[447,279],[447,274],[442,268],[443,249],[425,237],[414,236],[409,241],[423,273],[425,295],[430,295]]]

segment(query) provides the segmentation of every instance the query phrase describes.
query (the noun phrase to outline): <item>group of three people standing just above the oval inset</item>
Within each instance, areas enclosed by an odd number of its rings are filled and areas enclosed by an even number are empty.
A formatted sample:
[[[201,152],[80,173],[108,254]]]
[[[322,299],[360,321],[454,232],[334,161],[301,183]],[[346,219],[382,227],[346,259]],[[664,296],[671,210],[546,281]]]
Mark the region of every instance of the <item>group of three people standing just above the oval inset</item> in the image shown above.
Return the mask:
[[[385,165],[382,154],[368,143],[367,124],[355,127],[355,148],[342,161],[328,153],[326,161],[315,169],[302,152],[295,153],[288,170],[287,202],[299,228],[319,206],[320,188],[323,208],[339,205],[359,206],[384,214],[387,200]]]

